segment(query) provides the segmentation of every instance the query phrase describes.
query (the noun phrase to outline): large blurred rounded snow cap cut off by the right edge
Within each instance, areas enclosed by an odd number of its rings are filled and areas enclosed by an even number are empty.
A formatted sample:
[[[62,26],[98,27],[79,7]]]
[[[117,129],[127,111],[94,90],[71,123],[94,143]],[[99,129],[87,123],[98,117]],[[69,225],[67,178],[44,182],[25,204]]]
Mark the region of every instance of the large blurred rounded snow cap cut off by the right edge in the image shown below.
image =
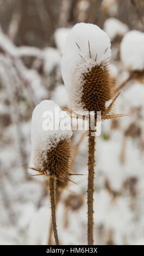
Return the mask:
[[[144,68],[144,33],[130,31],[124,35],[121,47],[121,60],[129,70],[142,70]]]

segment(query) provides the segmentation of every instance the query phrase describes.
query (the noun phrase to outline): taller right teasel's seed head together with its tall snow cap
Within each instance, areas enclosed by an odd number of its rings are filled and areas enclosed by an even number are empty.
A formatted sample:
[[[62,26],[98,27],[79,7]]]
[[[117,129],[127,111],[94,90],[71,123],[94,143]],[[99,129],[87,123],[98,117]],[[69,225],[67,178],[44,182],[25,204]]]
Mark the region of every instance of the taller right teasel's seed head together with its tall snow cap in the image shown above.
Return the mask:
[[[78,23],[62,51],[62,77],[73,111],[105,111],[114,96],[115,78],[109,69],[109,36],[98,26]]]

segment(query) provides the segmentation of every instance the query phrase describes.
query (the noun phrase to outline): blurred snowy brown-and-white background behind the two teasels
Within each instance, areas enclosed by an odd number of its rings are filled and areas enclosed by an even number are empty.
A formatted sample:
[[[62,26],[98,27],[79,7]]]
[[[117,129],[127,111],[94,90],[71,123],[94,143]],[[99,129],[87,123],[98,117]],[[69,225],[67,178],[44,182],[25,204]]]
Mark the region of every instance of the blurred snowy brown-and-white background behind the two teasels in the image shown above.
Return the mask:
[[[111,68],[121,90],[115,113],[96,143],[95,244],[144,245],[144,2],[0,0],[0,244],[47,245],[51,209],[47,183],[30,178],[30,122],[41,100],[68,108],[61,48],[77,22],[108,33]],[[74,145],[82,138],[74,131]],[[84,136],[83,136],[84,137]],[[74,173],[87,175],[87,138]],[[59,191],[62,245],[87,243],[87,176]],[[54,243],[53,236],[51,243]]]

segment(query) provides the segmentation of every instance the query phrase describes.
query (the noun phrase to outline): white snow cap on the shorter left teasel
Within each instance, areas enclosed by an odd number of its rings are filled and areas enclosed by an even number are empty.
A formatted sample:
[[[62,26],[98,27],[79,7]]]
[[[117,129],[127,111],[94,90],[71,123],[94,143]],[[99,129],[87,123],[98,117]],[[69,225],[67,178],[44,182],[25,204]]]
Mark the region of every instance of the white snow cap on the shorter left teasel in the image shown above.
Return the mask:
[[[65,123],[65,127],[61,126],[62,122]],[[46,127],[47,129],[45,129],[44,123],[48,125],[48,128]],[[31,161],[34,167],[41,168],[43,159],[46,160],[47,158],[47,150],[55,148],[59,141],[66,137],[70,138],[71,136],[72,130],[69,115],[65,111],[62,111],[52,100],[41,101],[35,107],[32,114]]]

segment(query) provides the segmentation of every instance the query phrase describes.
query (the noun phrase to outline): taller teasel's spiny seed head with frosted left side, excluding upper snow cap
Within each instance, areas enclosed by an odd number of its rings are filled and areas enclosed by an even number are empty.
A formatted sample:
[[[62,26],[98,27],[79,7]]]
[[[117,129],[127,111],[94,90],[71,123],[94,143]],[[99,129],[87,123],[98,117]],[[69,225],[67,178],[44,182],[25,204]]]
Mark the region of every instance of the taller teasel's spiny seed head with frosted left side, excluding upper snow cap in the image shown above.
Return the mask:
[[[116,80],[112,75],[111,65],[83,63],[74,70],[70,88],[70,107],[73,111],[101,111],[107,109],[107,102],[115,95]],[[109,112],[108,112],[109,113]]]

